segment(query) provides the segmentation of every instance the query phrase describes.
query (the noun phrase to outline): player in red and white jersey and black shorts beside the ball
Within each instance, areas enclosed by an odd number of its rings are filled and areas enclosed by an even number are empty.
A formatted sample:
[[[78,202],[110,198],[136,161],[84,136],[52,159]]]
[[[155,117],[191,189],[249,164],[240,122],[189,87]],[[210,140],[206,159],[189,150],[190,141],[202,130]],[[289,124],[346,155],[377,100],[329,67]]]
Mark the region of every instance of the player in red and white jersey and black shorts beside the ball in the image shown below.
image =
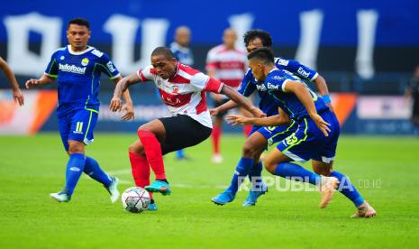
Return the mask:
[[[224,94],[252,115],[264,114],[237,91],[220,80],[187,67],[174,58],[169,48],[158,47],[151,53],[151,65],[123,78],[115,88],[111,110],[121,108],[123,91],[137,82],[154,81],[163,103],[172,116],[151,120],[137,131],[139,140],[129,147],[132,176],[135,184],[149,192],[170,194],[163,154],[203,142],[212,132],[213,124],[206,106],[206,92]],[[150,168],[156,180],[150,184]],[[157,209],[154,200],[153,210]],[[150,208],[149,208],[150,209]]]

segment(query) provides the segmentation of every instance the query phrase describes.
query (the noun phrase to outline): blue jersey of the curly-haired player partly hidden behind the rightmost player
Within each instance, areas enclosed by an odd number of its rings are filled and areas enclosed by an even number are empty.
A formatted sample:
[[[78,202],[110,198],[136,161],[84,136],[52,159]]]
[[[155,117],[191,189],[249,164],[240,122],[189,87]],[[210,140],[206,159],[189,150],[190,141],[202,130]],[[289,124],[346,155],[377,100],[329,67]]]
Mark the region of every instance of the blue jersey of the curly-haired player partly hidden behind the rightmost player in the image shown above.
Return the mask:
[[[317,78],[318,73],[314,69],[305,67],[296,60],[286,60],[283,58],[276,58],[275,65],[278,69],[285,69],[293,73],[297,78],[308,81],[313,81]],[[239,92],[244,97],[249,97],[255,90],[258,91],[260,97],[259,108],[266,115],[278,115],[278,104],[276,100],[268,94],[263,82],[258,82],[253,77],[251,69],[246,71],[244,78],[241,80]]]

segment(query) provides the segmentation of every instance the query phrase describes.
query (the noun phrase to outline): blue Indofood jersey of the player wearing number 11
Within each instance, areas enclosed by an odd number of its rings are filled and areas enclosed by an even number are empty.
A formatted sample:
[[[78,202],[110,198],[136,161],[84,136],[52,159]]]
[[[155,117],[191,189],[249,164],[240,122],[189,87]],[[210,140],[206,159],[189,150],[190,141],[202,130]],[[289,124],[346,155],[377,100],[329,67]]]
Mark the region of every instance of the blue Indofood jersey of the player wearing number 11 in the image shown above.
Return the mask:
[[[101,73],[111,79],[120,76],[118,69],[104,52],[93,47],[74,52],[70,45],[55,51],[45,74],[58,78],[58,115],[80,108],[98,111]]]

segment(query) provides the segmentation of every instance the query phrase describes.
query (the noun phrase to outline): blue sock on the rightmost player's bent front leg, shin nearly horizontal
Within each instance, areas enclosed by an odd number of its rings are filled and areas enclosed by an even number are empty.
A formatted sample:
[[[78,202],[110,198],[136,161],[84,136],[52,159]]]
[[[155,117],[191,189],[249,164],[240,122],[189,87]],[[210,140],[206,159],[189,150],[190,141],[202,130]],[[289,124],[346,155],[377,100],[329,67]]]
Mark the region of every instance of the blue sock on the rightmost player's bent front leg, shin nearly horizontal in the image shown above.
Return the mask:
[[[275,175],[291,180],[309,182],[314,185],[317,185],[321,179],[318,174],[307,171],[305,168],[292,162],[279,163],[275,170]]]

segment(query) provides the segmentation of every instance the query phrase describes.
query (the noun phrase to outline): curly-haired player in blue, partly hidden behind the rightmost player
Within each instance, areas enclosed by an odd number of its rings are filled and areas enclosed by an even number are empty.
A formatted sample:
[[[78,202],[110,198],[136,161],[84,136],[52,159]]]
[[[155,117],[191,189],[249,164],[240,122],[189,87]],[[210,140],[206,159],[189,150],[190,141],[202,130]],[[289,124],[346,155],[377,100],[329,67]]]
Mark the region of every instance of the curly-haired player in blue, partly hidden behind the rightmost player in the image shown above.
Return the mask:
[[[270,48],[272,46],[272,39],[269,32],[262,30],[250,30],[244,34],[244,43],[248,53],[261,47]],[[286,60],[283,58],[276,58],[276,66],[278,69],[287,69],[296,77],[304,79],[306,82],[314,81],[320,94],[326,102],[326,105],[331,107],[331,99],[329,91],[324,78],[314,69],[310,69],[305,65],[300,64],[296,60]],[[249,97],[254,91],[257,91],[260,96],[260,109],[268,116],[278,115],[278,106],[275,100],[269,96],[265,91],[263,82],[256,80],[251,69],[246,71],[246,75],[241,80],[239,92],[244,97]],[[228,109],[237,106],[234,102],[229,101],[223,106],[219,106],[211,110],[212,115],[217,115]],[[230,186],[221,194],[212,198],[217,205],[223,205],[231,202],[236,195],[237,190],[241,185],[242,177],[249,176],[252,188],[250,189],[248,197],[243,202],[244,207],[250,207],[256,204],[258,198],[268,191],[268,188],[261,182],[262,162],[260,161],[260,154],[267,148],[268,145],[278,143],[286,138],[288,134],[296,130],[296,123],[278,125],[278,126],[260,126],[253,125],[250,136],[242,147],[241,160],[238,162]]]

